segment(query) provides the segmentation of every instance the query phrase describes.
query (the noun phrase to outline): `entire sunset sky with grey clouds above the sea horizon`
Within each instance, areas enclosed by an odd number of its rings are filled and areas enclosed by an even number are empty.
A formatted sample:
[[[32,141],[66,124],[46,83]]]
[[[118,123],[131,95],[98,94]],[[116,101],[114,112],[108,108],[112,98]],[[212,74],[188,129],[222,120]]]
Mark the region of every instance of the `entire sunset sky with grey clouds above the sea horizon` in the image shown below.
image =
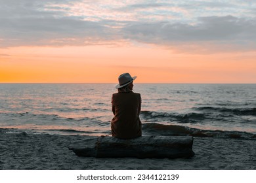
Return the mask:
[[[256,1],[0,0],[0,83],[256,83]]]

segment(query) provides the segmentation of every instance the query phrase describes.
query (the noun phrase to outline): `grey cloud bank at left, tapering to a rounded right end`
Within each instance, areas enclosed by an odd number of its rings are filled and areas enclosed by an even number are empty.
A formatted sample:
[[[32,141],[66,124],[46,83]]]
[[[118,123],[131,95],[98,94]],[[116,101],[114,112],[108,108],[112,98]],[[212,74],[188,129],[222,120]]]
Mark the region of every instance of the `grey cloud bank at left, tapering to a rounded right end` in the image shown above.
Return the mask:
[[[114,37],[104,25],[71,18],[0,18],[0,24],[5,27],[0,29],[5,46],[83,44]]]

